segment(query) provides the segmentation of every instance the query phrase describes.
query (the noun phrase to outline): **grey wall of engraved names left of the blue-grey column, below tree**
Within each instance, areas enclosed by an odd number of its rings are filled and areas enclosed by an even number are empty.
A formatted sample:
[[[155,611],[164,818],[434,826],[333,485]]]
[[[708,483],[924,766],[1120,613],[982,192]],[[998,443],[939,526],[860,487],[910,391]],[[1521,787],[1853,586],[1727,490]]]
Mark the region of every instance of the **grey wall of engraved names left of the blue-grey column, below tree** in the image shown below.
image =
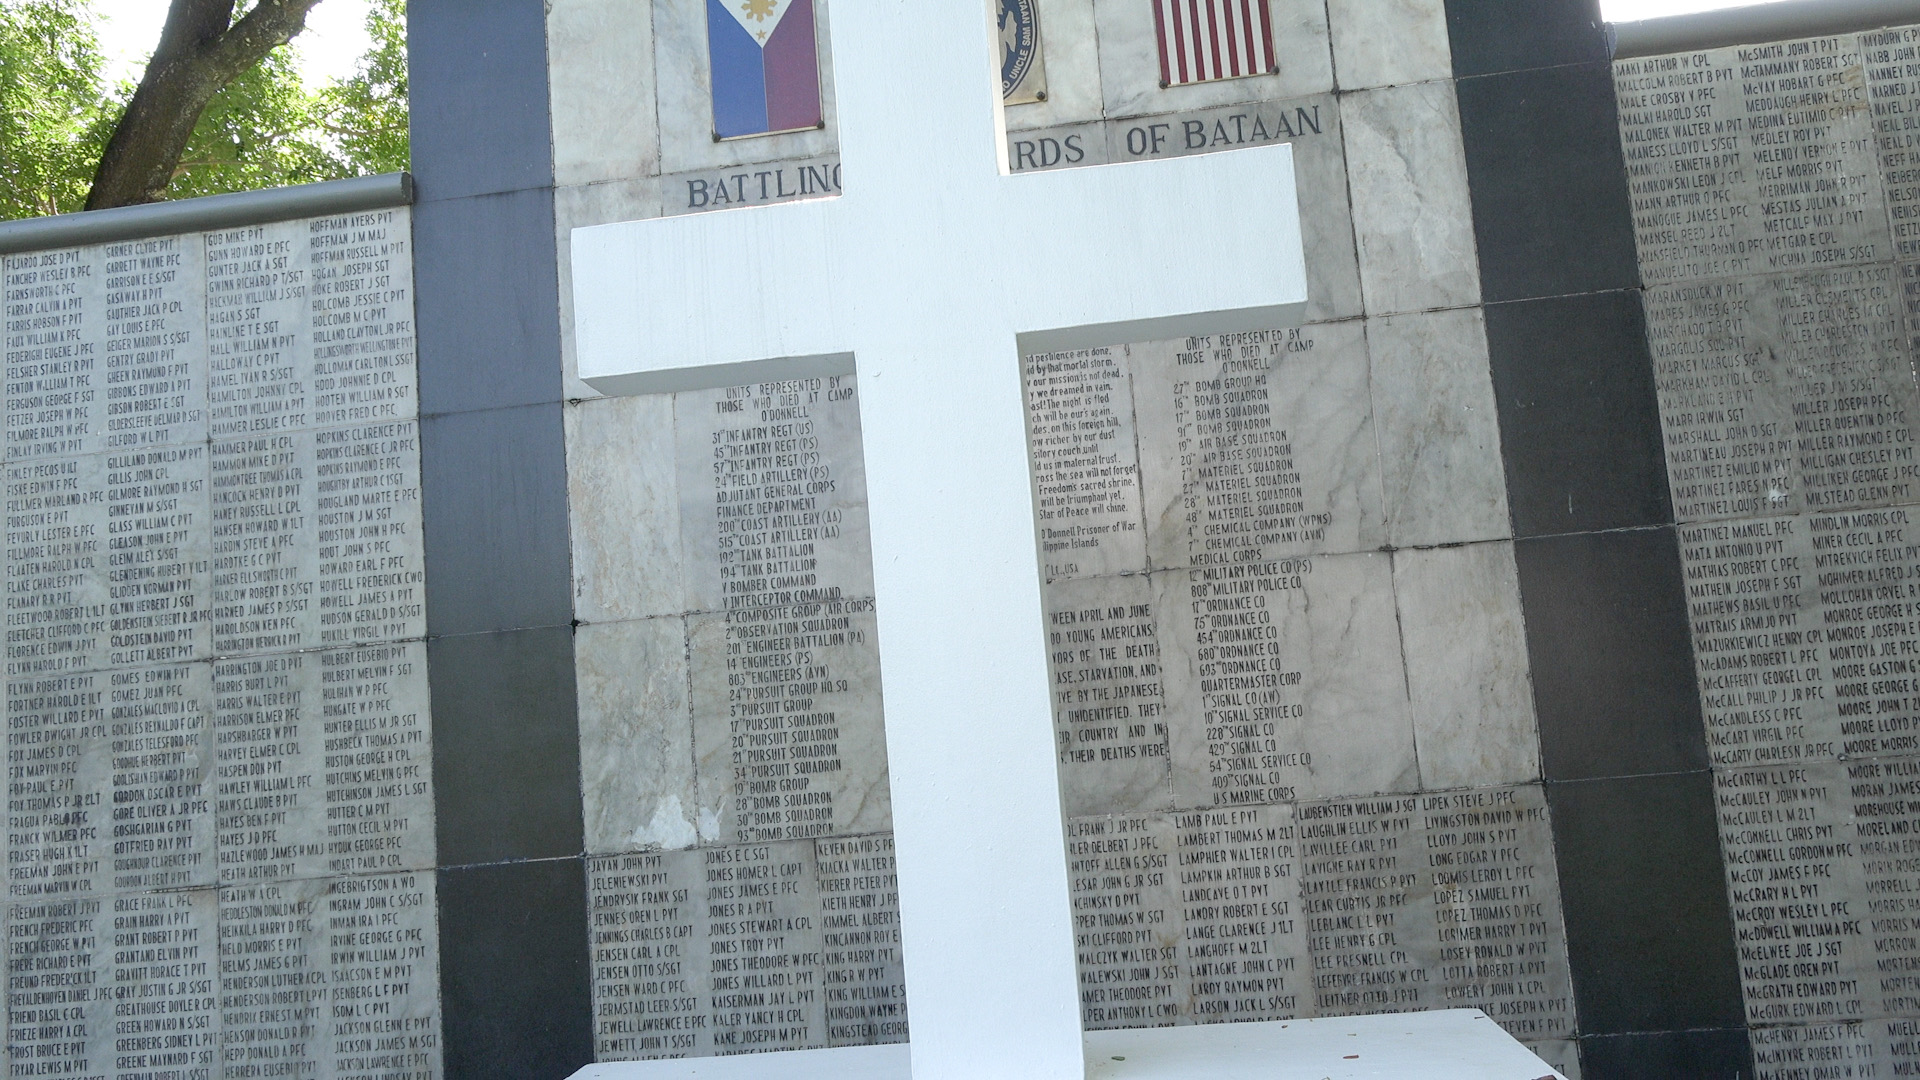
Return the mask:
[[[442,1074],[411,252],[4,259],[10,1076]]]

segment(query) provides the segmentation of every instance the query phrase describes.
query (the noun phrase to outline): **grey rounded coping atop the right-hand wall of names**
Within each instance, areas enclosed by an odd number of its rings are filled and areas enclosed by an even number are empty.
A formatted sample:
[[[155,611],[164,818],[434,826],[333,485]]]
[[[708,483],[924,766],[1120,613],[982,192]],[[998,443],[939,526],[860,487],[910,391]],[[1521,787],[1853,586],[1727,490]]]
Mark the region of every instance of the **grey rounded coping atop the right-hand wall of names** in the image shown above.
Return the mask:
[[[1782,0],[1636,23],[1609,23],[1615,60],[1728,44],[1811,38],[1920,23],[1920,0]]]

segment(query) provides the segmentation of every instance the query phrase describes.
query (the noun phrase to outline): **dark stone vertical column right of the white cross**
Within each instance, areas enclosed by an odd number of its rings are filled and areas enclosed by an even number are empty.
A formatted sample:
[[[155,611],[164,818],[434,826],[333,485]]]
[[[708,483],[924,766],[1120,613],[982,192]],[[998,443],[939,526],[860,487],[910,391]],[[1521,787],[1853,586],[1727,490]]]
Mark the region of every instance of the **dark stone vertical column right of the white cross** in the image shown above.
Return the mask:
[[[1751,1057],[1597,0],[1446,8],[1586,1080],[1732,1076]]]

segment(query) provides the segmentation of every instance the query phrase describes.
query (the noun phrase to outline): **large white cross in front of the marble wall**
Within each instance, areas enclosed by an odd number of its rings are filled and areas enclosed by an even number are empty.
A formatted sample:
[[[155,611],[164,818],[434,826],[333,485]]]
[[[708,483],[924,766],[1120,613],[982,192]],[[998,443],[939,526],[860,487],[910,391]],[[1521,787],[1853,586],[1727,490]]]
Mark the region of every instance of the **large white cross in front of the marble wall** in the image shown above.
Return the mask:
[[[574,231],[580,375],[852,354],[912,1076],[1079,1080],[1020,356],[1298,321],[1292,150],[1010,177],[985,4],[835,0],[831,42],[845,194]]]

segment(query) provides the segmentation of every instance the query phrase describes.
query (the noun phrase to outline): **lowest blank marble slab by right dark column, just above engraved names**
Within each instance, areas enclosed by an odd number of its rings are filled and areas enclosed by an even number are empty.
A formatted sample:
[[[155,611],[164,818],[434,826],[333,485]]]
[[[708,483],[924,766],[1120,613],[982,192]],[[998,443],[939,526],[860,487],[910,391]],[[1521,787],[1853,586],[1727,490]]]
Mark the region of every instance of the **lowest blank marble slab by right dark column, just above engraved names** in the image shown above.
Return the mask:
[[[1513,544],[1394,552],[1421,788],[1540,778]]]

